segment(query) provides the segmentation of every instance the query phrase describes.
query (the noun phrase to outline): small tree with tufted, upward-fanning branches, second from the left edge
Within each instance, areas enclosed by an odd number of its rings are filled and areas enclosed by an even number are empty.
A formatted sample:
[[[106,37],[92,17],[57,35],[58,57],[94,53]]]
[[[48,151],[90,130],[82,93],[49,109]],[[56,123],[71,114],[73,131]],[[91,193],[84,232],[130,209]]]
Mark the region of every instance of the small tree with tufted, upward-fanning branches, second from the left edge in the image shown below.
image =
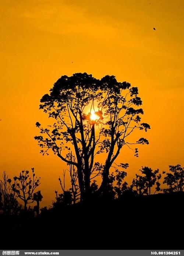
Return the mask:
[[[22,171],[18,177],[14,177],[14,183],[9,180],[12,190],[24,202],[24,210],[27,209],[27,204],[33,203],[33,193],[40,185],[40,177],[35,177],[34,168],[31,170],[32,176],[29,175],[29,171]]]

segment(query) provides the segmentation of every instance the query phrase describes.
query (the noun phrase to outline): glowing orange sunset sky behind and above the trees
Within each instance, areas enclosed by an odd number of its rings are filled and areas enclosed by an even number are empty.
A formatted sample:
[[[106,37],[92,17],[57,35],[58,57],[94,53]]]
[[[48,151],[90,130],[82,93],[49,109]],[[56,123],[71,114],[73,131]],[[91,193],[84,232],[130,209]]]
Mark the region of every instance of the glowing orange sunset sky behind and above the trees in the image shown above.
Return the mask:
[[[183,0],[0,0],[0,174],[35,167],[42,206],[51,204],[66,165],[39,154],[35,123],[47,123],[39,99],[76,72],[139,88],[152,129],[139,158],[120,156],[128,180],[141,165],[184,165],[183,12]]]

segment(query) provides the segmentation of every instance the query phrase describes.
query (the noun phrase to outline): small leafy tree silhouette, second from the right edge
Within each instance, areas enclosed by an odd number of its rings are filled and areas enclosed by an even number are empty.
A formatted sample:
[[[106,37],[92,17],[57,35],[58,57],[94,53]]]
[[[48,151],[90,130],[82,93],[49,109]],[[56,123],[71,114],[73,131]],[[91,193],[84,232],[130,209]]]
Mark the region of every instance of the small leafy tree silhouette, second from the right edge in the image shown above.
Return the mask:
[[[150,195],[151,188],[154,185],[156,185],[154,194],[156,193],[156,191],[160,190],[159,180],[161,178],[161,174],[159,173],[159,169],[153,171],[151,168],[145,166],[142,167],[142,169],[139,171],[141,171],[141,173],[144,174],[145,176],[136,174],[136,178],[132,180],[132,190],[135,187],[134,191],[139,195]]]

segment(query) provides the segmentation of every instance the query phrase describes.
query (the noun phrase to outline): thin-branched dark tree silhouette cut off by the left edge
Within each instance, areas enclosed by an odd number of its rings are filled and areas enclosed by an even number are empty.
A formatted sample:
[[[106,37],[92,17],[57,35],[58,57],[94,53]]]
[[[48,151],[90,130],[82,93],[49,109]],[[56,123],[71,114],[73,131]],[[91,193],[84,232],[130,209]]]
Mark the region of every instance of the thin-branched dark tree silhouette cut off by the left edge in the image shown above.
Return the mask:
[[[3,179],[0,180],[0,209],[4,214],[17,214],[21,206],[17,201],[17,195],[10,185],[11,179],[6,172],[3,172]]]

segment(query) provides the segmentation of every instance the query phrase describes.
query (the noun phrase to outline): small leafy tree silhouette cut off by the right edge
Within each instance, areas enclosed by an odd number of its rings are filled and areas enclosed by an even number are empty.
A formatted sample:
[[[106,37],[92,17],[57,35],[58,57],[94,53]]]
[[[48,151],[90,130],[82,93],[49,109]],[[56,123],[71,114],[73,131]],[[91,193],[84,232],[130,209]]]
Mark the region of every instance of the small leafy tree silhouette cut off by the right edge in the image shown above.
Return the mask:
[[[180,164],[169,165],[170,172],[163,172],[166,174],[163,180],[163,184],[169,186],[163,189],[164,193],[167,192],[181,192],[184,191],[184,168]]]

